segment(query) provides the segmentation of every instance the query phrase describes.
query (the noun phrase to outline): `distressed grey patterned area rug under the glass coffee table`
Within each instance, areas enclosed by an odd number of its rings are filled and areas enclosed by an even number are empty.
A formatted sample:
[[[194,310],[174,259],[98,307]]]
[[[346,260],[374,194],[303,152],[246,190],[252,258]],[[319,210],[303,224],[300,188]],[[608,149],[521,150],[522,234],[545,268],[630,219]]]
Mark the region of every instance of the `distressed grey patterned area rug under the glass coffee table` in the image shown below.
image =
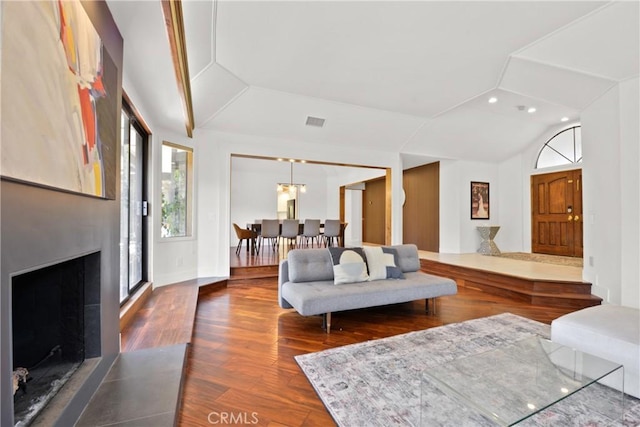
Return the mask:
[[[534,335],[548,337],[549,332],[549,325],[507,313],[295,359],[339,426],[492,426],[493,421],[436,385],[422,383],[422,372]],[[619,392],[595,384],[521,425],[640,425],[640,400],[626,396],[624,418],[607,409],[618,404],[619,398]],[[424,419],[426,413],[428,421]]]

